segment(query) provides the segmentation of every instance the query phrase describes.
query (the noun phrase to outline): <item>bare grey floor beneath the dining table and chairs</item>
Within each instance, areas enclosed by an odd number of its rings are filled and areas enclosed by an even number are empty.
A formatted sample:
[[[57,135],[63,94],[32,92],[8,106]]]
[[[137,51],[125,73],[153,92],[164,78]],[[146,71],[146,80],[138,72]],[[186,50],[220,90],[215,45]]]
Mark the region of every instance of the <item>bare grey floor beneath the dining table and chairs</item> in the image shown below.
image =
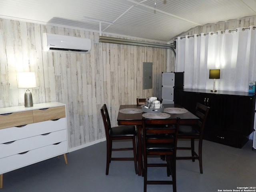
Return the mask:
[[[182,140],[178,144],[186,142]],[[0,192],[143,191],[143,177],[135,174],[132,161],[111,162],[109,175],[105,175],[106,142],[70,152],[67,158],[67,165],[60,156],[4,174],[4,187]],[[149,168],[148,172],[149,178],[167,178],[164,168]],[[218,192],[255,187],[256,150],[252,150],[252,140],[242,149],[204,140],[203,172],[200,174],[197,160],[177,160],[177,191]],[[148,192],[172,192],[169,185],[148,185],[147,189]]]

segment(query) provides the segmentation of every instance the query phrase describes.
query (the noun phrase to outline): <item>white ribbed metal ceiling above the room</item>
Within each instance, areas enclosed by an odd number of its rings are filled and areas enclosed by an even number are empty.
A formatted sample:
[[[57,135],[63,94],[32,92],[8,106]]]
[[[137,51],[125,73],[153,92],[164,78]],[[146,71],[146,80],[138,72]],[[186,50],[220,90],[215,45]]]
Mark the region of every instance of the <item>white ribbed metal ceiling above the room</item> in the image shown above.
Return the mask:
[[[102,34],[159,42],[196,26],[253,15],[256,0],[0,0],[1,18],[96,32],[101,21]]]

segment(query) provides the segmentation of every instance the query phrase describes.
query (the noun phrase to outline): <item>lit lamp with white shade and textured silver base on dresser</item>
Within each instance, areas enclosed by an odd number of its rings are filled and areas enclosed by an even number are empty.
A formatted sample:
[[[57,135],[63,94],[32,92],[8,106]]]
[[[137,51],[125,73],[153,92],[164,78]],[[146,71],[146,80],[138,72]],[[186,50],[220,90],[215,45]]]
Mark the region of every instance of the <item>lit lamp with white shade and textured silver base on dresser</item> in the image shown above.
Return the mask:
[[[32,93],[29,88],[36,87],[36,76],[34,72],[19,72],[18,73],[18,88],[26,88],[24,95],[25,107],[33,106]]]

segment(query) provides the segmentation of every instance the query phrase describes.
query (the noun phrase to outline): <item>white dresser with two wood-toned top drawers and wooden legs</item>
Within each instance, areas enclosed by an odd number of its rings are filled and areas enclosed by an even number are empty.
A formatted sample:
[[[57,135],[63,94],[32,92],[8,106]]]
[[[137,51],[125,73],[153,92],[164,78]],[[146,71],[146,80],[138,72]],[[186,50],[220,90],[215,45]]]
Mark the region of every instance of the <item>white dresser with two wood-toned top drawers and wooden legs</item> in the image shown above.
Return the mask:
[[[0,108],[0,188],[3,174],[68,152],[66,105]]]

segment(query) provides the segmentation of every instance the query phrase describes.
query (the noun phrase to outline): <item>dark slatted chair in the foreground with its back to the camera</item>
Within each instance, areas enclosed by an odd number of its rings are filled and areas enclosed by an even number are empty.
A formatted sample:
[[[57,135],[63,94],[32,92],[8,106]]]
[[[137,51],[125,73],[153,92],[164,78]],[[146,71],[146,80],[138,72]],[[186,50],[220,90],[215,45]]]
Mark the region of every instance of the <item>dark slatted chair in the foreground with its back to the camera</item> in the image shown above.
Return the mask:
[[[170,184],[176,192],[176,145],[180,118],[176,119],[143,119],[142,150],[144,192],[148,184]],[[148,163],[148,158],[166,156],[165,161]],[[148,167],[167,167],[167,176],[172,180],[148,180]]]

